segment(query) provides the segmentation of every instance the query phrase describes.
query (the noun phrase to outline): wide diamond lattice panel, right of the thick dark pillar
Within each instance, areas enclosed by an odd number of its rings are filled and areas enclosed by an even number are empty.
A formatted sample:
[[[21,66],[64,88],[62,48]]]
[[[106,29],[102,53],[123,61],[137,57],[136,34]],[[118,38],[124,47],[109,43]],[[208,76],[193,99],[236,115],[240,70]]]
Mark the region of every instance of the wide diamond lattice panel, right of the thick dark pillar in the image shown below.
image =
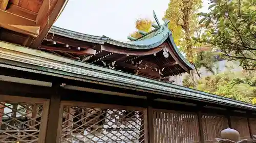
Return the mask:
[[[64,106],[61,143],[144,140],[143,111]]]

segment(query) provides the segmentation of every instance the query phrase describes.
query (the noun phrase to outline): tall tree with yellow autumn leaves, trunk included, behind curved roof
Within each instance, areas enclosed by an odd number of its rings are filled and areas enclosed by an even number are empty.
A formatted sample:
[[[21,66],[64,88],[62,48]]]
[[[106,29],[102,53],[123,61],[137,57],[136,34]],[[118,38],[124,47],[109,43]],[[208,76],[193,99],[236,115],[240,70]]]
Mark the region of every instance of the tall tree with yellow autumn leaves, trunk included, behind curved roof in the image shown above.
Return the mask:
[[[189,62],[193,61],[193,39],[198,27],[198,10],[201,0],[171,0],[165,12],[170,20],[169,29],[173,32],[175,43],[186,53]]]

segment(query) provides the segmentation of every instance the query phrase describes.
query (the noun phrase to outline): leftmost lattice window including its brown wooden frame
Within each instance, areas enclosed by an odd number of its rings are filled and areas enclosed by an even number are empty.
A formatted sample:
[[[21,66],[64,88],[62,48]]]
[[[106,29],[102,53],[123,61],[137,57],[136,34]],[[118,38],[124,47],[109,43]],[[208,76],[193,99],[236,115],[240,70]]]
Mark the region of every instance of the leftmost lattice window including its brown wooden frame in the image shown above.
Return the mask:
[[[48,100],[0,95],[0,142],[44,143]]]

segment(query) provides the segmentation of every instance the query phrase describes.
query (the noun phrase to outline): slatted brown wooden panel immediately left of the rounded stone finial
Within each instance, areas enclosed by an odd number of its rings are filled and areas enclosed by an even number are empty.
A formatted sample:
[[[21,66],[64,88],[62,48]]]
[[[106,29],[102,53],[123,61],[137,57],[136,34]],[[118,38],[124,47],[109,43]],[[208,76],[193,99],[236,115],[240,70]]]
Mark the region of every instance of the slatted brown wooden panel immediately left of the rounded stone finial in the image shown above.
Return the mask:
[[[216,137],[220,137],[221,131],[228,127],[228,121],[223,116],[202,115],[202,127],[204,140],[216,142]]]

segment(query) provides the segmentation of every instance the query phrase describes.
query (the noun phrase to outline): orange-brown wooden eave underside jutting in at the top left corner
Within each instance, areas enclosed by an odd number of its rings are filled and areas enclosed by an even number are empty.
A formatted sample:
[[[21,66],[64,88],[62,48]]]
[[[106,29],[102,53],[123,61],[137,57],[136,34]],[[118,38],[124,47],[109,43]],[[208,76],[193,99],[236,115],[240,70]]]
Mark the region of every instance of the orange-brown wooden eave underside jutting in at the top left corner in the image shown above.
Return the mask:
[[[0,0],[0,40],[37,48],[66,0]]]

